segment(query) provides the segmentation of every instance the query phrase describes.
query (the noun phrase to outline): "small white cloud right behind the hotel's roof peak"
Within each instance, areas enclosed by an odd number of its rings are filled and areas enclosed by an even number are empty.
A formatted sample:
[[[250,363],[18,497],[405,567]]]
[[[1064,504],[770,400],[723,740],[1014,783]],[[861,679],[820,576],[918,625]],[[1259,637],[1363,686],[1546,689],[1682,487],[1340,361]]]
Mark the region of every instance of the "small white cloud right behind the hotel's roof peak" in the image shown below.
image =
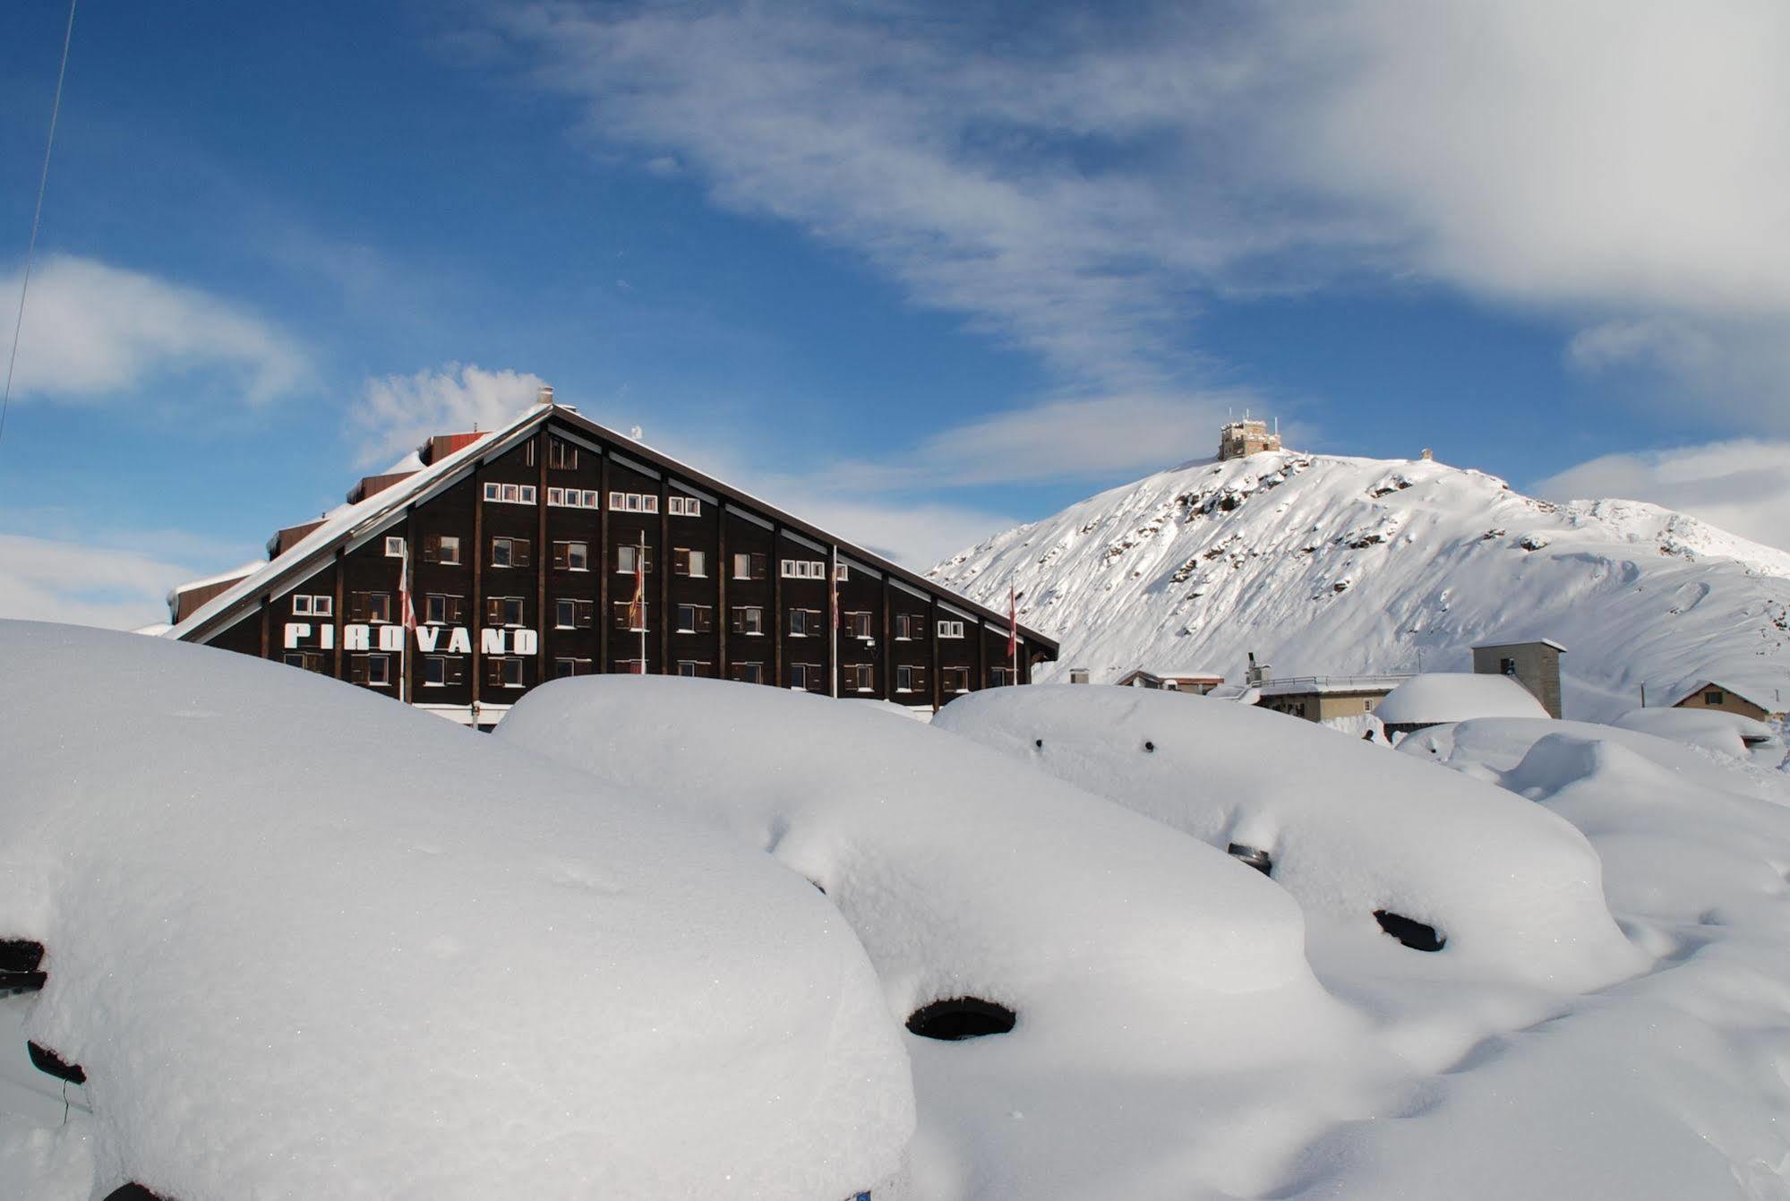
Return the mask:
[[[367,379],[349,413],[358,465],[401,458],[431,433],[494,430],[535,405],[546,379],[519,371],[448,363],[413,376]]]

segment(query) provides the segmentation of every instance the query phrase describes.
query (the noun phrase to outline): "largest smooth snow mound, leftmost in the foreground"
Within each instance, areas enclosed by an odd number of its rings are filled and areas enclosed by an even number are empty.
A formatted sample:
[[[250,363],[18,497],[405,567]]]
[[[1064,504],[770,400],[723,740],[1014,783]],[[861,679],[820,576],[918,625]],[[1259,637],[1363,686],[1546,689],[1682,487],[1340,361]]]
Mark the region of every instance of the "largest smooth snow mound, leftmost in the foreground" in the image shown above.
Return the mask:
[[[281,664],[0,623],[0,678],[32,682],[0,694],[0,934],[48,968],[4,1006],[88,1074],[63,1131],[0,1106],[25,1196],[840,1201],[897,1171],[877,981],[763,856]]]

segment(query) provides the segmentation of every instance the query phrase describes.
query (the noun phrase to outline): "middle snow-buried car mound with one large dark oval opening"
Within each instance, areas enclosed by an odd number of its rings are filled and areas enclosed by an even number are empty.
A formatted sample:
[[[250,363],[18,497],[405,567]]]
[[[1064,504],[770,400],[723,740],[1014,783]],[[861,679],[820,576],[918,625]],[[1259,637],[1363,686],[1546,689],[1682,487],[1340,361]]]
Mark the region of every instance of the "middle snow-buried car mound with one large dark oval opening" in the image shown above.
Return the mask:
[[[1369,1070],[1366,1026],[1314,979],[1285,891],[967,739],[662,677],[548,684],[498,737],[702,814],[823,888],[897,1015],[965,995],[1015,1011],[1008,1035],[909,1040],[920,1133],[895,1196],[1260,1187],[1339,1086],[1283,1095],[1274,1067]]]

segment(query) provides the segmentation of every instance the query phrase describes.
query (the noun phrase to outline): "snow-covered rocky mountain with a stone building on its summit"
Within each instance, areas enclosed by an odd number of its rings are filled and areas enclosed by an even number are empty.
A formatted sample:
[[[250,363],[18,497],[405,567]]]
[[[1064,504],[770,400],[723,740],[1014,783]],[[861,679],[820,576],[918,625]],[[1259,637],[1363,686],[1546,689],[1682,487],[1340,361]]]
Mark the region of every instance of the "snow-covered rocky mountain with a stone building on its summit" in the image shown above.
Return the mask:
[[[1790,555],[1638,501],[1554,505],[1432,460],[1203,460],[999,533],[933,578],[1087,668],[1244,675],[1470,669],[1475,643],[1563,643],[1568,716],[1720,680],[1790,700]]]

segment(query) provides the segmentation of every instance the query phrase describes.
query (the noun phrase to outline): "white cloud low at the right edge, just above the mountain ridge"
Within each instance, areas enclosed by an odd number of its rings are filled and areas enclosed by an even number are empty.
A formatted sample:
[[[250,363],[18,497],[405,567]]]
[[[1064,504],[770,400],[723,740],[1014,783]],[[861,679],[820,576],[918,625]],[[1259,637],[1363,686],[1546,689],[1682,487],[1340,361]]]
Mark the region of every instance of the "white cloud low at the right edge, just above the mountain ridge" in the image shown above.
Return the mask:
[[[1790,442],[1711,442],[1640,455],[1606,455],[1541,480],[1556,499],[1650,501],[1790,551]]]

